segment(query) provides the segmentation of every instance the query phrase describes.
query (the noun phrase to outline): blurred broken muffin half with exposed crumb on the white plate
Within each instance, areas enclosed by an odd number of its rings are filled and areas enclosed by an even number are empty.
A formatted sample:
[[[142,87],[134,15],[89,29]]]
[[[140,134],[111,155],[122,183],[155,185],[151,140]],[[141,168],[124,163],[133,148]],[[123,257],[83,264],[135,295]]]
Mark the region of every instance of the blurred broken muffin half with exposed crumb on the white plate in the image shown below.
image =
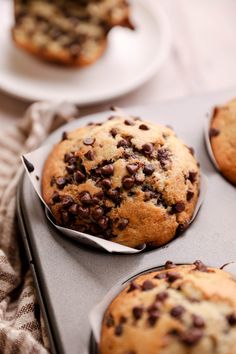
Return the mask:
[[[126,0],[15,0],[13,39],[37,57],[84,66],[103,53],[114,26],[133,28]]]

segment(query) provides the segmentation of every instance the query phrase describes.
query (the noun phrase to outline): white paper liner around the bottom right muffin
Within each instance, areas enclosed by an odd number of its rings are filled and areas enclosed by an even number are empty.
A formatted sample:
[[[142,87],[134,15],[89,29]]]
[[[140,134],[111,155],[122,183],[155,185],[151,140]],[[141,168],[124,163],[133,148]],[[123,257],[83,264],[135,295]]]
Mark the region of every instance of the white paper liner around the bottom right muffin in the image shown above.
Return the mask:
[[[183,264],[185,263],[183,262]],[[119,285],[115,285],[114,287],[112,287],[111,290],[109,290],[108,293],[105,295],[105,297],[97,305],[94,306],[94,308],[89,313],[89,322],[97,344],[100,342],[104,314],[108,306],[115,299],[115,297],[122,292],[122,290],[130,283],[133,278],[139,277],[144,273],[152,272],[158,269],[160,269],[160,266],[151,269],[143,268],[143,270],[141,270],[139,274],[133,274],[127,281],[121,281]],[[222,266],[221,269],[236,276],[236,262],[230,262]]]

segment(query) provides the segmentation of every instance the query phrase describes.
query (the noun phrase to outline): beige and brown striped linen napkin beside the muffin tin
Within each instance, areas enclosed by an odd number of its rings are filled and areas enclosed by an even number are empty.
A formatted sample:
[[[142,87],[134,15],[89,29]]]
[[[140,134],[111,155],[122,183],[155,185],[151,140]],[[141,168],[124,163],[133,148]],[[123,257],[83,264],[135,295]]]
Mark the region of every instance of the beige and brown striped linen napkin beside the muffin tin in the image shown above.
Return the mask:
[[[39,102],[17,125],[0,131],[0,353],[49,351],[17,225],[16,190],[23,172],[20,155],[75,116],[78,110],[73,105]]]

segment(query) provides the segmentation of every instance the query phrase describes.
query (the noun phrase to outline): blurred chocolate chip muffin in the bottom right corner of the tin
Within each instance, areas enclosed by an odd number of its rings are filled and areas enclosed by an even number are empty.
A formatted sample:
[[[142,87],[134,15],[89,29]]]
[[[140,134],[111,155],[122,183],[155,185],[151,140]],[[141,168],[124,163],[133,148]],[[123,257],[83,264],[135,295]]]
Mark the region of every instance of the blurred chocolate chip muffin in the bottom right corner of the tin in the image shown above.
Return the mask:
[[[235,354],[236,279],[202,262],[141,275],[110,304],[101,354]]]

